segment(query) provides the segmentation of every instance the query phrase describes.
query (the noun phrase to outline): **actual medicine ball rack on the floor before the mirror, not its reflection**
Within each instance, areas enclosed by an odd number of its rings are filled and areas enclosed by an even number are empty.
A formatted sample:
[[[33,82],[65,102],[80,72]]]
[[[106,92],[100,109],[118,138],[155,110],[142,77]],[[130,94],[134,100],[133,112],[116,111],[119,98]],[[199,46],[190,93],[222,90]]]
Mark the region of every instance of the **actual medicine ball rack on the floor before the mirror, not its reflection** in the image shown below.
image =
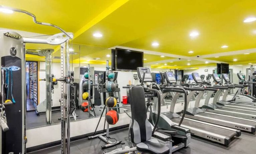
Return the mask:
[[[104,84],[99,84],[100,81],[98,81],[97,85],[93,85],[93,86],[97,86],[98,91],[100,93],[100,97],[101,97],[100,98],[101,105],[100,106],[95,106],[93,108],[93,110],[95,110],[95,113],[96,113],[97,110],[101,111],[101,115],[100,115],[100,118],[99,118],[99,121],[98,121],[98,124],[97,124],[97,127],[96,127],[95,131],[94,131],[93,136],[88,137],[88,139],[100,138],[102,141],[104,141],[106,144],[101,146],[102,149],[112,147],[112,146],[115,146],[115,145],[120,143],[120,141],[117,141],[116,139],[109,137],[109,124],[111,124],[111,123],[115,124],[117,122],[116,121],[116,120],[118,120],[117,112],[122,113],[123,112],[123,107],[124,107],[121,103],[121,100],[120,100],[120,88],[117,88],[117,84],[115,84],[115,83],[117,83],[117,81],[116,81],[117,75],[115,75],[116,73],[113,72],[113,71],[110,71],[109,69],[110,69],[110,67],[108,65],[108,60],[107,60],[107,62],[106,62],[106,82]],[[99,79],[99,80],[101,80],[101,79]],[[113,103],[113,104],[116,104],[116,106],[113,106],[112,103],[107,103],[107,104],[104,103],[103,102],[103,100],[104,100],[103,93],[105,93],[106,97],[110,100],[111,100],[111,98],[109,98],[109,96],[113,96],[116,99],[117,97],[115,96],[116,95],[115,93],[118,93],[119,102],[118,103],[117,102]],[[109,105],[109,107],[107,105]],[[113,107],[110,107],[110,106],[113,106]],[[100,122],[105,110],[106,110],[106,112],[105,112],[106,115],[105,115],[103,133],[96,135],[96,131],[97,131],[99,122]],[[96,113],[96,115],[97,115],[97,113]],[[106,119],[106,118],[108,118],[108,119]],[[114,118],[115,118],[115,120],[114,120]],[[112,122],[111,122],[111,119],[113,120]],[[107,128],[106,128],[106,133],[105,133],[105,123],[106,123],[106,121],[107,121]],[[106,135],[106,137],[104,137],[105,135]]]

